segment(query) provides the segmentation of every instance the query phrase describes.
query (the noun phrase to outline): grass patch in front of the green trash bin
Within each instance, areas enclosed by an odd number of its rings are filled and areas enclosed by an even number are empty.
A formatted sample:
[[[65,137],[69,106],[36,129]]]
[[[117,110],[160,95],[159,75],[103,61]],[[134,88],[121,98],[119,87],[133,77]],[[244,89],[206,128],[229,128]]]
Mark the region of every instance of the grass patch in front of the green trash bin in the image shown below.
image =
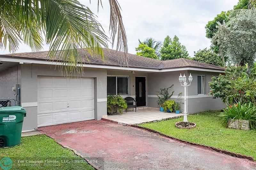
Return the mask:
[[[52,138],[45,135],[36,135],[30,137],[22,137],[21,144],[11,148],[0,148],[0,161],[3,157],[9,157],[13,161],[12,169],[94,169],[84,159],[74,154],[69,149],[63,148],[57,144]],[[58,160],[59,163],[44,164],[40,167],[33,165],[33,163],[20,163],[18,160]],[[68,160],[61,162],[61,160]],[[75,162],[75,163],[74,163]],[[76,163],[79,162],[79,163]],[[25,166],[30,165],[30,166]],[[1,169],[1,168],[0,168]]]

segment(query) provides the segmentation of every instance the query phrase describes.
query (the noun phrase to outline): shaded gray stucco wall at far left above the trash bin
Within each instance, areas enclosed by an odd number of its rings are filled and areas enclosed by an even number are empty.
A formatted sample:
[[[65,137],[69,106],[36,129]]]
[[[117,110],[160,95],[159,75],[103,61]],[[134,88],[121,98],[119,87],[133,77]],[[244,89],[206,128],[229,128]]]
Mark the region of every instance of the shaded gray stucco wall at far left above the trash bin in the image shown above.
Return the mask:
[[[0,72],[0,98],[16,99],[12,92],[16,84],[20,84],[20,65]]]

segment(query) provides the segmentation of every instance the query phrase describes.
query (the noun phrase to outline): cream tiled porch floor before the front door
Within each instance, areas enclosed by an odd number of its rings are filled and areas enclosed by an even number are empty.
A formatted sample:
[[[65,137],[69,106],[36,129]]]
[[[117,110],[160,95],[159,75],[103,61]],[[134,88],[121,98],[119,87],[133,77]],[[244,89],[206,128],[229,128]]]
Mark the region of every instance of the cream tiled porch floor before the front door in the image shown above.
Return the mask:
[[[138,109],[137,112],[127,111],[123,114],[108,115],[105,119],[125,123],[125,124],[138,124],[144,122],[161,121],[163,119],[174,118],[182,116],[183,114],[160,112],[154,109]]]

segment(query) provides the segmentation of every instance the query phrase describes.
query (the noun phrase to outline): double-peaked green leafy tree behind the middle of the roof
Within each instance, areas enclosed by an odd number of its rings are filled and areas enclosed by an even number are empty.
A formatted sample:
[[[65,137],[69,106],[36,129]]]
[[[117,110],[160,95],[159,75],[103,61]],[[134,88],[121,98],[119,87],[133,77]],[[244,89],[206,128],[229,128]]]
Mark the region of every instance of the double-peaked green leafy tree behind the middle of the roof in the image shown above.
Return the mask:
[[[188,51],[181,45],[179,38],[175,35],[173,40],[167,35],[163,47],[160,49],[161,60],[172,60],[176,58],[189,58]]]

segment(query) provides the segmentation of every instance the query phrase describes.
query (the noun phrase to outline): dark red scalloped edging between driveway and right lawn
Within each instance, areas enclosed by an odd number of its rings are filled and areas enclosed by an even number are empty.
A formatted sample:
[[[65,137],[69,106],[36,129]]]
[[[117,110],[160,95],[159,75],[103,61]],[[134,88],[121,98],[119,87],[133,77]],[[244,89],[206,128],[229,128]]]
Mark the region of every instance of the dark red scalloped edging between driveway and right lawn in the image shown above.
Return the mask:
[[[174,117],[174,118],[175,118],[175,117]],[[169,120],[169,119],[174,119],[174,118],[167,118],[167,120]],[[194,146],[200,146],[200,147],[203,147],[203,148],[205,148],[205,149],[210,149],[210,150],[213,150],[213,151],[216,151],[216,152],[219,152],[219,153],[224,153],[224,154],[227,154],[227,155],[230,155],[230,156],[233,156],[233,157],[243,158],[243,159],[248,159],[248,160],[254,161],[253,157],[251,157],[251,156],[246,156],[246,155],[242,155],[242,154],[239,154],[239,153],[235,153],[235,152],[230,152],[230,151],[226,151],[226,150],[214,148],[214,147],[212,147],[212,146],[206,146],[206,145],[202,145],[202,144],[196,144],[196,143],[193,143],[193,142],[188,142],[188,141],[185,141],[185,140],[182,140],[182,139],[178,139],[178,138],[175,138],[175,137],[171,137],[171,136],[169,136],[169,135],[165,135],[165,134],[163,134],[162,132],[158,132],[158,131],[153,130],[153,129],[149,129],[149,128],[145,128],[145,127],[139,126],[140,124],[145,124],[145,123],[126,124],[126,123],[120,123],[120,122],[112,121],[112,120],[109,120],[109,119],[106,119],[106,118],[101,118],[101,120],[107,121],[107,122],[116,123],[116,124],[120,124],[120,125],[124,125],[124,126],[129,126],[129,127],[134,127],[134,128],[143,129],[143,130],[146,130],[146,131],[148,131],[148,132],[154,133],[154,134],[156,134],[156,135],[160,135],[160,136],[163,136],[163,137],[167,137],[167,138],[173,139],[173,140],[178,141],[178,142],[182,142],[182,143],[184,143],[184,144],[190,144],[190,145],[194,145]],[[155,122],[155,121],[151,121],[151,122]],[[151,122],[146,122],[146,123],[151,123]],[[156,122],[159,122],[159,121],[156,121]]]

